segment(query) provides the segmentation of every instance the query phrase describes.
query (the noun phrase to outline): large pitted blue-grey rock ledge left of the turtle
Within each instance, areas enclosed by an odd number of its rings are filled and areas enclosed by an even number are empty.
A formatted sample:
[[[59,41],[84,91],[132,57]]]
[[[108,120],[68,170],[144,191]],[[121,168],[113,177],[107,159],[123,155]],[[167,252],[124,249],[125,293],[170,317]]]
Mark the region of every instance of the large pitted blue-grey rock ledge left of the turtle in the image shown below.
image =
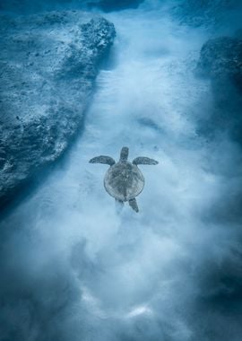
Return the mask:
[[[0,203],[63,153],[82,125],[115,29],[82,12],[1,17]]]

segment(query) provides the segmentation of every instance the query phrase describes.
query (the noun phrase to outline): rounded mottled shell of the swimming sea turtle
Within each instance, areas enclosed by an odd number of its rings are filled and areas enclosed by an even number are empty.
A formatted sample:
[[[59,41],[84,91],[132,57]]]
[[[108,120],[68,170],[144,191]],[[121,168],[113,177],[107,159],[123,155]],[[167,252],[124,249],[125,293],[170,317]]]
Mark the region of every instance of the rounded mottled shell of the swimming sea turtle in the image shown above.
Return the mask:
[[[117,162],[108,169],[104,178],[108,194],[121,201],[137,197],[143,191],[143,186],[143,174],[131,162]]]

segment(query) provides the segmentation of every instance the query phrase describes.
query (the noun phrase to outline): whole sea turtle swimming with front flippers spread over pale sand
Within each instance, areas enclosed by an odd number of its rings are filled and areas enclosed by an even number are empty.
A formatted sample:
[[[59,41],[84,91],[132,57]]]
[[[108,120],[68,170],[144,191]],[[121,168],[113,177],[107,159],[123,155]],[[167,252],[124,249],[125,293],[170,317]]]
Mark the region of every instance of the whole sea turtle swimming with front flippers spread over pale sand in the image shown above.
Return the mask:
[[[135,197],[143,191],[144,179],[137,166],[138,164],[158,164],[158,162],[144,156],[136,157],[133,162],[128,162],[127,158],[128,148],[123,147],[117,163],[113,158],[105,155],[96,156],[90,162],[105,163],[110,166],[104,177],[104,187],[108,194],[122,205],[128,201],[134,211],[139,212]]]

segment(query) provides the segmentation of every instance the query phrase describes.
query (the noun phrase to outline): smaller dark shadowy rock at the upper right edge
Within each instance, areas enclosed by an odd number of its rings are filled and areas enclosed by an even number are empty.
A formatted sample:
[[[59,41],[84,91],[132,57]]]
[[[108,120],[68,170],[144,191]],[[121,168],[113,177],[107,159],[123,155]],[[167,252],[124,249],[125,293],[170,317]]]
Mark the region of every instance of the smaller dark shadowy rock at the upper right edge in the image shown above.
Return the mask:
[[[212,81],[214,109],[206,130],[221,129],[242,144],[242,39],[208,40],[201,49],[197,71]]]

